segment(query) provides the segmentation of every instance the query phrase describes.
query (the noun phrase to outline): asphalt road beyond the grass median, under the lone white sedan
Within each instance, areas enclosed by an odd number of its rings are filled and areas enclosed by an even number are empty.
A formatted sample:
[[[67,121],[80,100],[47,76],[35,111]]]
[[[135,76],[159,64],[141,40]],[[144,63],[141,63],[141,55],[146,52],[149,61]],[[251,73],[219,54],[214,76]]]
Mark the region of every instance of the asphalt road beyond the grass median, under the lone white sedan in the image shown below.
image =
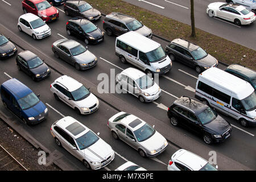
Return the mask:
[[[154,11],[179,22],[191,25],[190,0],[123,0],[144,9]],[[148,3],[149,2],[149,3]],[[234,43],[256,50],[256,23],[249,26],[236,26],[226,20],[209,17],[207,6],[212,2],[226,2],[225,0],[194,0],[195,25],[197,28],[230,40]],[[150,4],[151,3],[151,4]],[[154,4],[154,5],[152,5]],[[157,6],[155,6],[157,5]]]

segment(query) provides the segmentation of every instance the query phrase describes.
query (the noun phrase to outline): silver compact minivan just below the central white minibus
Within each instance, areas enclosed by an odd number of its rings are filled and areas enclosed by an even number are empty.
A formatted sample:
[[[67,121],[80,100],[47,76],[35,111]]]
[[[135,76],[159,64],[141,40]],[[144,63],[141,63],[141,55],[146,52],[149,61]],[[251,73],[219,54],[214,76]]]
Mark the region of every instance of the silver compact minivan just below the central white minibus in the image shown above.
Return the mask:
[[[133,94],[141,102],[154,101],[162,92],[151,77],[135,68],[122,71],[117,76],[116,84],[118,89]]]

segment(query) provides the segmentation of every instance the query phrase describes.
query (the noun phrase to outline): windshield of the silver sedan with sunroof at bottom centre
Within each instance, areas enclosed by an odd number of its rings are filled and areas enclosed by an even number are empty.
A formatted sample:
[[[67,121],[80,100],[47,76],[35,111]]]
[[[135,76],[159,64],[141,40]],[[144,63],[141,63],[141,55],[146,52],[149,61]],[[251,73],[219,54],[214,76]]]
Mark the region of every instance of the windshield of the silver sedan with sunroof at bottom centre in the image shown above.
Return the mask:
[[[146,123],[141,128],[134,131],[134,134],[135,134],[135,137],[137,138],[138,142],[143,142],[144,140],[146,140],[146,139],[150,138],[152,135],[154,135],[155,130]]]

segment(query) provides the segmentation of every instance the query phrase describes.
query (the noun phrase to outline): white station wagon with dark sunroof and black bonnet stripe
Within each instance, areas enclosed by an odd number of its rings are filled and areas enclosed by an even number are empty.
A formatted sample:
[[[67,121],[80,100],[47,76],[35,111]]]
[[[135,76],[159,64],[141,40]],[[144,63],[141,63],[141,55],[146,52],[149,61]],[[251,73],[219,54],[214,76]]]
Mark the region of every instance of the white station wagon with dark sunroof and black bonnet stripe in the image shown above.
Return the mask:
[[[53,123],[51,134],[58,146],[65,148],[89,169],[100,169],[114,160],[112,147],[70,116]]]

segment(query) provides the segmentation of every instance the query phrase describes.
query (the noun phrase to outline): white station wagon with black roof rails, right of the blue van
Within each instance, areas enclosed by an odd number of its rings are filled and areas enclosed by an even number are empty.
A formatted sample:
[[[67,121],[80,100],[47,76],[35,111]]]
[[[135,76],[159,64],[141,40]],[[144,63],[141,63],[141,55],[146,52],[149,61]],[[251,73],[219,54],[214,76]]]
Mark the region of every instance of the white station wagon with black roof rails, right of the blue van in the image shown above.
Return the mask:
[[[100,106],[98,98],[89,89],[67,75],[57,78],[50,87],[57,101],[63,101],[78,114],[93,113]]]

